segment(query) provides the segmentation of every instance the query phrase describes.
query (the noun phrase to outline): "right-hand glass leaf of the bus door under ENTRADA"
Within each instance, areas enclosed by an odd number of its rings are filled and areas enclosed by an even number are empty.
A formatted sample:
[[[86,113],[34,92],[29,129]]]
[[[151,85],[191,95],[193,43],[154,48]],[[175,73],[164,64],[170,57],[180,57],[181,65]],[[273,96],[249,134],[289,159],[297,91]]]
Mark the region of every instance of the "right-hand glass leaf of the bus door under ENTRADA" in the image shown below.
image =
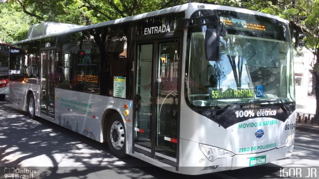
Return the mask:
[[[179,43],[159,44],[157,69],[156,155],[176,158]]]

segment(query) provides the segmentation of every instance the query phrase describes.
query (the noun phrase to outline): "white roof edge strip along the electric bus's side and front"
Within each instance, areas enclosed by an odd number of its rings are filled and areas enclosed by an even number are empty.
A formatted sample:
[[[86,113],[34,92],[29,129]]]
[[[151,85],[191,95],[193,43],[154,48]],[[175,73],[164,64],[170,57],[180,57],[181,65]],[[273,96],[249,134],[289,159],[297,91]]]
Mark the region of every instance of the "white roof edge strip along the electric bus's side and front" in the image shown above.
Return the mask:
[[[70,28],[70,30],[65,30],[65,31],[57,32],[57,33],[50,33],[50,34],[46,34],[46,35],[44,34],[44,35],[40,35],[40,36],[37,36],[37,37],[28,38],[26,40],[21,40],[21,41],[18,41],[18,42],[14,42],[11,45],[16,45],[16,44],[19,44],[19,43],[24,43],[24,42],[28,42],[28,41],[32,41],[32,40],[38,40],[38,39],[42,39],[42,38],[52,37],[52,36],[56,36],[56,35],[62,35],[62,34],[67,34],[67,33],[72,33],[72,32],[79,32],[79,31],[83,31],[83,30],[89,30],[89,29],[94,29],[94,28],[108,26],[108,25],[113,25],[113,24],[120,24],[120,23],[124,23],[124,22],[135,21],[135,20],[139,20],[139,19],[143,19],[143,18],[148,18],[148,17],[152,17],[152,16],[159,16],[159,15],[164,15],[164,14],[173,13],[173,12],[179,12],[179,11],[185,11],[185,18],[189,18],[190,15],[194,11],[196,11],[198,9],[230,10],[230,11],[235,11],[235,12],[241,12],[241,13],[247,13],[247,14],[253,14],[253,15],[260,15],[260,16],[264,16],[264,17],[268,17],[268,18],[273,18],[273,19],[282,21],[282,22],[287,23],[287,24],[289,23],[288,20],[285,20],[285,19],[283,19],[281,17],[270,15],[270,14],[266,14],[266,13],[262,13],[262,12],[257,12],[257,11],[249,10],[249,9],[245,9],[245,8],[230,7],[230,6],[224,6],[224,5],[214,5],[214,4],[204,4],[204,3],[197,3],[197,2],[189,2],[189,3],[182,4],[182,5],[176,5],[176,6],[173,6],[173,7],[168,7],[168,8],[160,9],[160,10],[157,10],[157,11],[146,12],[146,13],[143,13],[143,14],[138,14],[138,15],[134,15],[134,16],[119,18],[119,19],[115,19],[115,20],[102,22],[102,23],[97,23],[97,24],[92,24],[92,25],[87,25],[87,26],[75,25],[75,26],[73,26],[74,28]],[[33,28],[33,26],[31,26],[30,28]],[[55,28],[56,28],[56,26],[55,26]]]

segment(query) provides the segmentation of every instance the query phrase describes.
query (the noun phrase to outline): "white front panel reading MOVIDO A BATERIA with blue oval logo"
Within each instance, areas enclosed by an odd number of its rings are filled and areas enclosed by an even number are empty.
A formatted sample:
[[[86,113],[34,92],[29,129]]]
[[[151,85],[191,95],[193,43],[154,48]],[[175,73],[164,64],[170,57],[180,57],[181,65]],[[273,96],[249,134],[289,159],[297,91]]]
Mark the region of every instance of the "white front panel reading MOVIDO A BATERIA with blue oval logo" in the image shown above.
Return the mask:
[[[285,122],[271,117],[259,117],[230,126],[227,132],[232,141],[231,152],[252,154],[275,149],[289,135],[295,133],[295,124],[296,112],[293,112]],[[293,127],[285,129],[287,125]]]

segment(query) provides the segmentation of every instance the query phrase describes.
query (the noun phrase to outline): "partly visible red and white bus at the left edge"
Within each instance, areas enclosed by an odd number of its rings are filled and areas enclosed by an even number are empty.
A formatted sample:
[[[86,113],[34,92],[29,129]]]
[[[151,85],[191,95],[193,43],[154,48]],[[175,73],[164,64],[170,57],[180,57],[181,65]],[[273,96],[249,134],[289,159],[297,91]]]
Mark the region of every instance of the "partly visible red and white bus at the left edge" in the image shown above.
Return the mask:
[[[9,93],[9,44],[0,43],[0,100],[4,100]]]

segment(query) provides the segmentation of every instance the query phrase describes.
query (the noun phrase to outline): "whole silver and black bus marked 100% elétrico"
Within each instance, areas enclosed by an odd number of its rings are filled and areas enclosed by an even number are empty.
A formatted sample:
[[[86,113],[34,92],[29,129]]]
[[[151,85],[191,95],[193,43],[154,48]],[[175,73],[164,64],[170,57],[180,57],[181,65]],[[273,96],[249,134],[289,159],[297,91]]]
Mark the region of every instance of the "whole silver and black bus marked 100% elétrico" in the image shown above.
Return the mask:
[[[11,101],[118,157],[198,175],[292,155],[282,18],[186,3],[88,26],[36,24],[10,48]]]

